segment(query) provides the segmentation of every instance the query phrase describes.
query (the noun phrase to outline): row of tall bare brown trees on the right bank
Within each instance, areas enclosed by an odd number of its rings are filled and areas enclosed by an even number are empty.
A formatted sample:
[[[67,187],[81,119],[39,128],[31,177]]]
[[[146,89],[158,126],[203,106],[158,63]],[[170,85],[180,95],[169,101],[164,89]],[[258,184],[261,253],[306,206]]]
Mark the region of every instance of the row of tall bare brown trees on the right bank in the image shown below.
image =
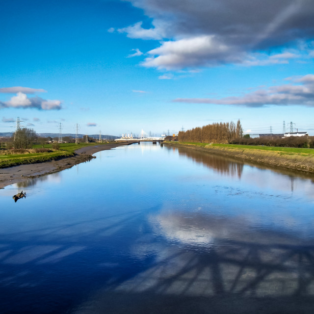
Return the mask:
[[[180,131],[178,140],[183,142],[227,144],[232,139],[242,137],[243,131],[240,120],[209,124],[192,130]]]

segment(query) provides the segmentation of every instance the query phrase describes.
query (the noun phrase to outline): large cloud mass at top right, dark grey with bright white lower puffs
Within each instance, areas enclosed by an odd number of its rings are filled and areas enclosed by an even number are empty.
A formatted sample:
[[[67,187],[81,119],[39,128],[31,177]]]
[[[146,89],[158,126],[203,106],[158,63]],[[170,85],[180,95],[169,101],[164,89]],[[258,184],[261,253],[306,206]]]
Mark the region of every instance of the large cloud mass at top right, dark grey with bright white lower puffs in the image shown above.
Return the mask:
[[[153,19],[151,29],[138,22],[123,28],[129,37],[142,39],[171,39],[173,46],[183,39],[210,36],[225,52],[188,58],[185,47],[176,55],[167,52],[166,43],[149,52],[143,65],[165,69],[209,66],[226,62],[241,63],[245,54],[289,47],[297,41],[314,37],[313,0],[127,0],[144,10]],[[277,54],[278,59],[297,55]],[[193,62],[193,60],[195,62]],[[283,62],[283,61],[282,61]],[[268,62],[268,64],[278,62]],[[254,64],[251,65],[261,65]]]

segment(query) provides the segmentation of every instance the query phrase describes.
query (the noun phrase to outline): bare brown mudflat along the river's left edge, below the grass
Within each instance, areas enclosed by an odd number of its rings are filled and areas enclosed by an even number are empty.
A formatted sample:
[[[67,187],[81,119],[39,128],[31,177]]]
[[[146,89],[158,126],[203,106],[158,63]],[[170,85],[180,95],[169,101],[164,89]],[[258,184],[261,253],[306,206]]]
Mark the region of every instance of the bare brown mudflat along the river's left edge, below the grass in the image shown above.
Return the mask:
[[[23,182],[32,178],[45,176],[54,172],[68,169],[78,163],[90,160],[92,155],[115,148],[117,146],[128,145],[127,143],[108,143],[96,146],[82,147],[76,150],[76,156],[52,160],[48,162],[19,165],[0,169],[0,188],[4,186]]]

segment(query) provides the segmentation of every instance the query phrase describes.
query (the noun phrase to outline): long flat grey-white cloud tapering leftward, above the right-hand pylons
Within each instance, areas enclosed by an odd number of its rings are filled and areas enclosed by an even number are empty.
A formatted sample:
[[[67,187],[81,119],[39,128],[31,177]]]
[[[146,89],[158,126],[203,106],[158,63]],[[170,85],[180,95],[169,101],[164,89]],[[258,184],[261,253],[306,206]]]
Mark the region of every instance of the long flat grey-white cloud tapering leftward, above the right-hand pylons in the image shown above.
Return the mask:
[[[213,98],[178,98],[173,102],[214,105],[244,105],[262,107],[264,105],[305,105],[314,106],[314,75],[302,78],[288,78],[301,85],[280,85],[268,89],[260,89],[242,97]]]

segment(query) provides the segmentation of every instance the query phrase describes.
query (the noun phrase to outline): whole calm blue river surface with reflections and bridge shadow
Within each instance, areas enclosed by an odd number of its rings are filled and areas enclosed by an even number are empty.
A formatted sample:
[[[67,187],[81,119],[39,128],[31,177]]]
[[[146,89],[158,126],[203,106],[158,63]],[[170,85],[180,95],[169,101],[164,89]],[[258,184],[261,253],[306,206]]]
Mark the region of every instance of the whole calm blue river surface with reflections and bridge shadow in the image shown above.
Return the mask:
[[[1,313],[313,313],[314,177],[150,143],[95,156],[0,190]]]

